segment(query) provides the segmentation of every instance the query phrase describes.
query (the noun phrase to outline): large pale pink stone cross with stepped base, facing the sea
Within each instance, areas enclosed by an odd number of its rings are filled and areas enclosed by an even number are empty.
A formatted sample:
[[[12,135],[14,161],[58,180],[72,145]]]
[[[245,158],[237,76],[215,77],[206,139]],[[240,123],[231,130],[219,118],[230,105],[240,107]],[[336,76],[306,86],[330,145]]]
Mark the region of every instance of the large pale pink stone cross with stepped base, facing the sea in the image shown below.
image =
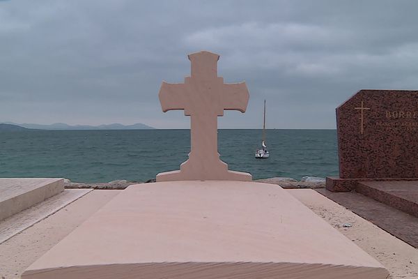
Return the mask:
[[[190,116],[189,159],[180,165],[180,170],[157,174],[157,181],[251,181],[251,174],[228,170],[217,151],[217,117],[223,116],[224,110],[245,112],[249,100],[247,85],[225,84],[217,76],[217,54],[196,52],[188,57],[192,75],[185,77],[185,83],[162,82],[159,98],[163,112],[184,110],[185,116]]]

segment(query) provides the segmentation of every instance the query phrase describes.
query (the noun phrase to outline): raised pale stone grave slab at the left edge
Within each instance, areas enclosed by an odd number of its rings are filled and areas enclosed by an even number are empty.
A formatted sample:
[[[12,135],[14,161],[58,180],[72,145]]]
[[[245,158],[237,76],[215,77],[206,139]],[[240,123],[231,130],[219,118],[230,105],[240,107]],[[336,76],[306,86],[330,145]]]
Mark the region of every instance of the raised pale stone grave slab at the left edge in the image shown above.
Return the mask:
[[[63,190],[63,179],[0,179],[0,220],[28,209]]]

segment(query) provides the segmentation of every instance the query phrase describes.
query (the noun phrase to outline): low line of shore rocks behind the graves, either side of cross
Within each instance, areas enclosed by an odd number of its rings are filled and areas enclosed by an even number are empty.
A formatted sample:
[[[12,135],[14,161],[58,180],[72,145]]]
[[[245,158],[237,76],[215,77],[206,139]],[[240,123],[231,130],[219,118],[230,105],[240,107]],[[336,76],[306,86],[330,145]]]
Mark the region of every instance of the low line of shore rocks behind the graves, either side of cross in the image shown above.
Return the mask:
[[[64,180],[64,186],[68,189],[101,189],[101,190],[123,190],[132,184],[153,183],[155,179],[146,182],[115,180],[104,183],[84,183],[72,182],[69,179]],[[269,179],[258,179],[255,182],[277,184],[285,189],[301,189],[301,188],[325,188],[325,179],[316,176],[304,176],[300,181],[290,177],[271,177]]]

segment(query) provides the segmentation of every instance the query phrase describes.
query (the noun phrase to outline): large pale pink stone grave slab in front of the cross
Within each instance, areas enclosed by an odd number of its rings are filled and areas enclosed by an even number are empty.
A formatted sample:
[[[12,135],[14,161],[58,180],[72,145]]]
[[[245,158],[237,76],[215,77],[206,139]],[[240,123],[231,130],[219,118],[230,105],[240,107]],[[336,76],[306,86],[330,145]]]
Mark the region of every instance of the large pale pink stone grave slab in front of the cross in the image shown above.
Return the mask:
[[[277,185],[170,181],[123,190],[22,278],[387,276],[376,259]]]

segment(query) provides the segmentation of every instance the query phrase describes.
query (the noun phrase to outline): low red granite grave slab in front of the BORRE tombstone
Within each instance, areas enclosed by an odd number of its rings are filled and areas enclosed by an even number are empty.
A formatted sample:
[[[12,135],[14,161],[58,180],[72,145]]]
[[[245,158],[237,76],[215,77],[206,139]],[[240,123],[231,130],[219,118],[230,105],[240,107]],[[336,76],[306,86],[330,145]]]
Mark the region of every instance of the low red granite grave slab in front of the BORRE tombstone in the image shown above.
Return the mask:
[[[356,192],[418,217],[418,181],[360,181]]]

